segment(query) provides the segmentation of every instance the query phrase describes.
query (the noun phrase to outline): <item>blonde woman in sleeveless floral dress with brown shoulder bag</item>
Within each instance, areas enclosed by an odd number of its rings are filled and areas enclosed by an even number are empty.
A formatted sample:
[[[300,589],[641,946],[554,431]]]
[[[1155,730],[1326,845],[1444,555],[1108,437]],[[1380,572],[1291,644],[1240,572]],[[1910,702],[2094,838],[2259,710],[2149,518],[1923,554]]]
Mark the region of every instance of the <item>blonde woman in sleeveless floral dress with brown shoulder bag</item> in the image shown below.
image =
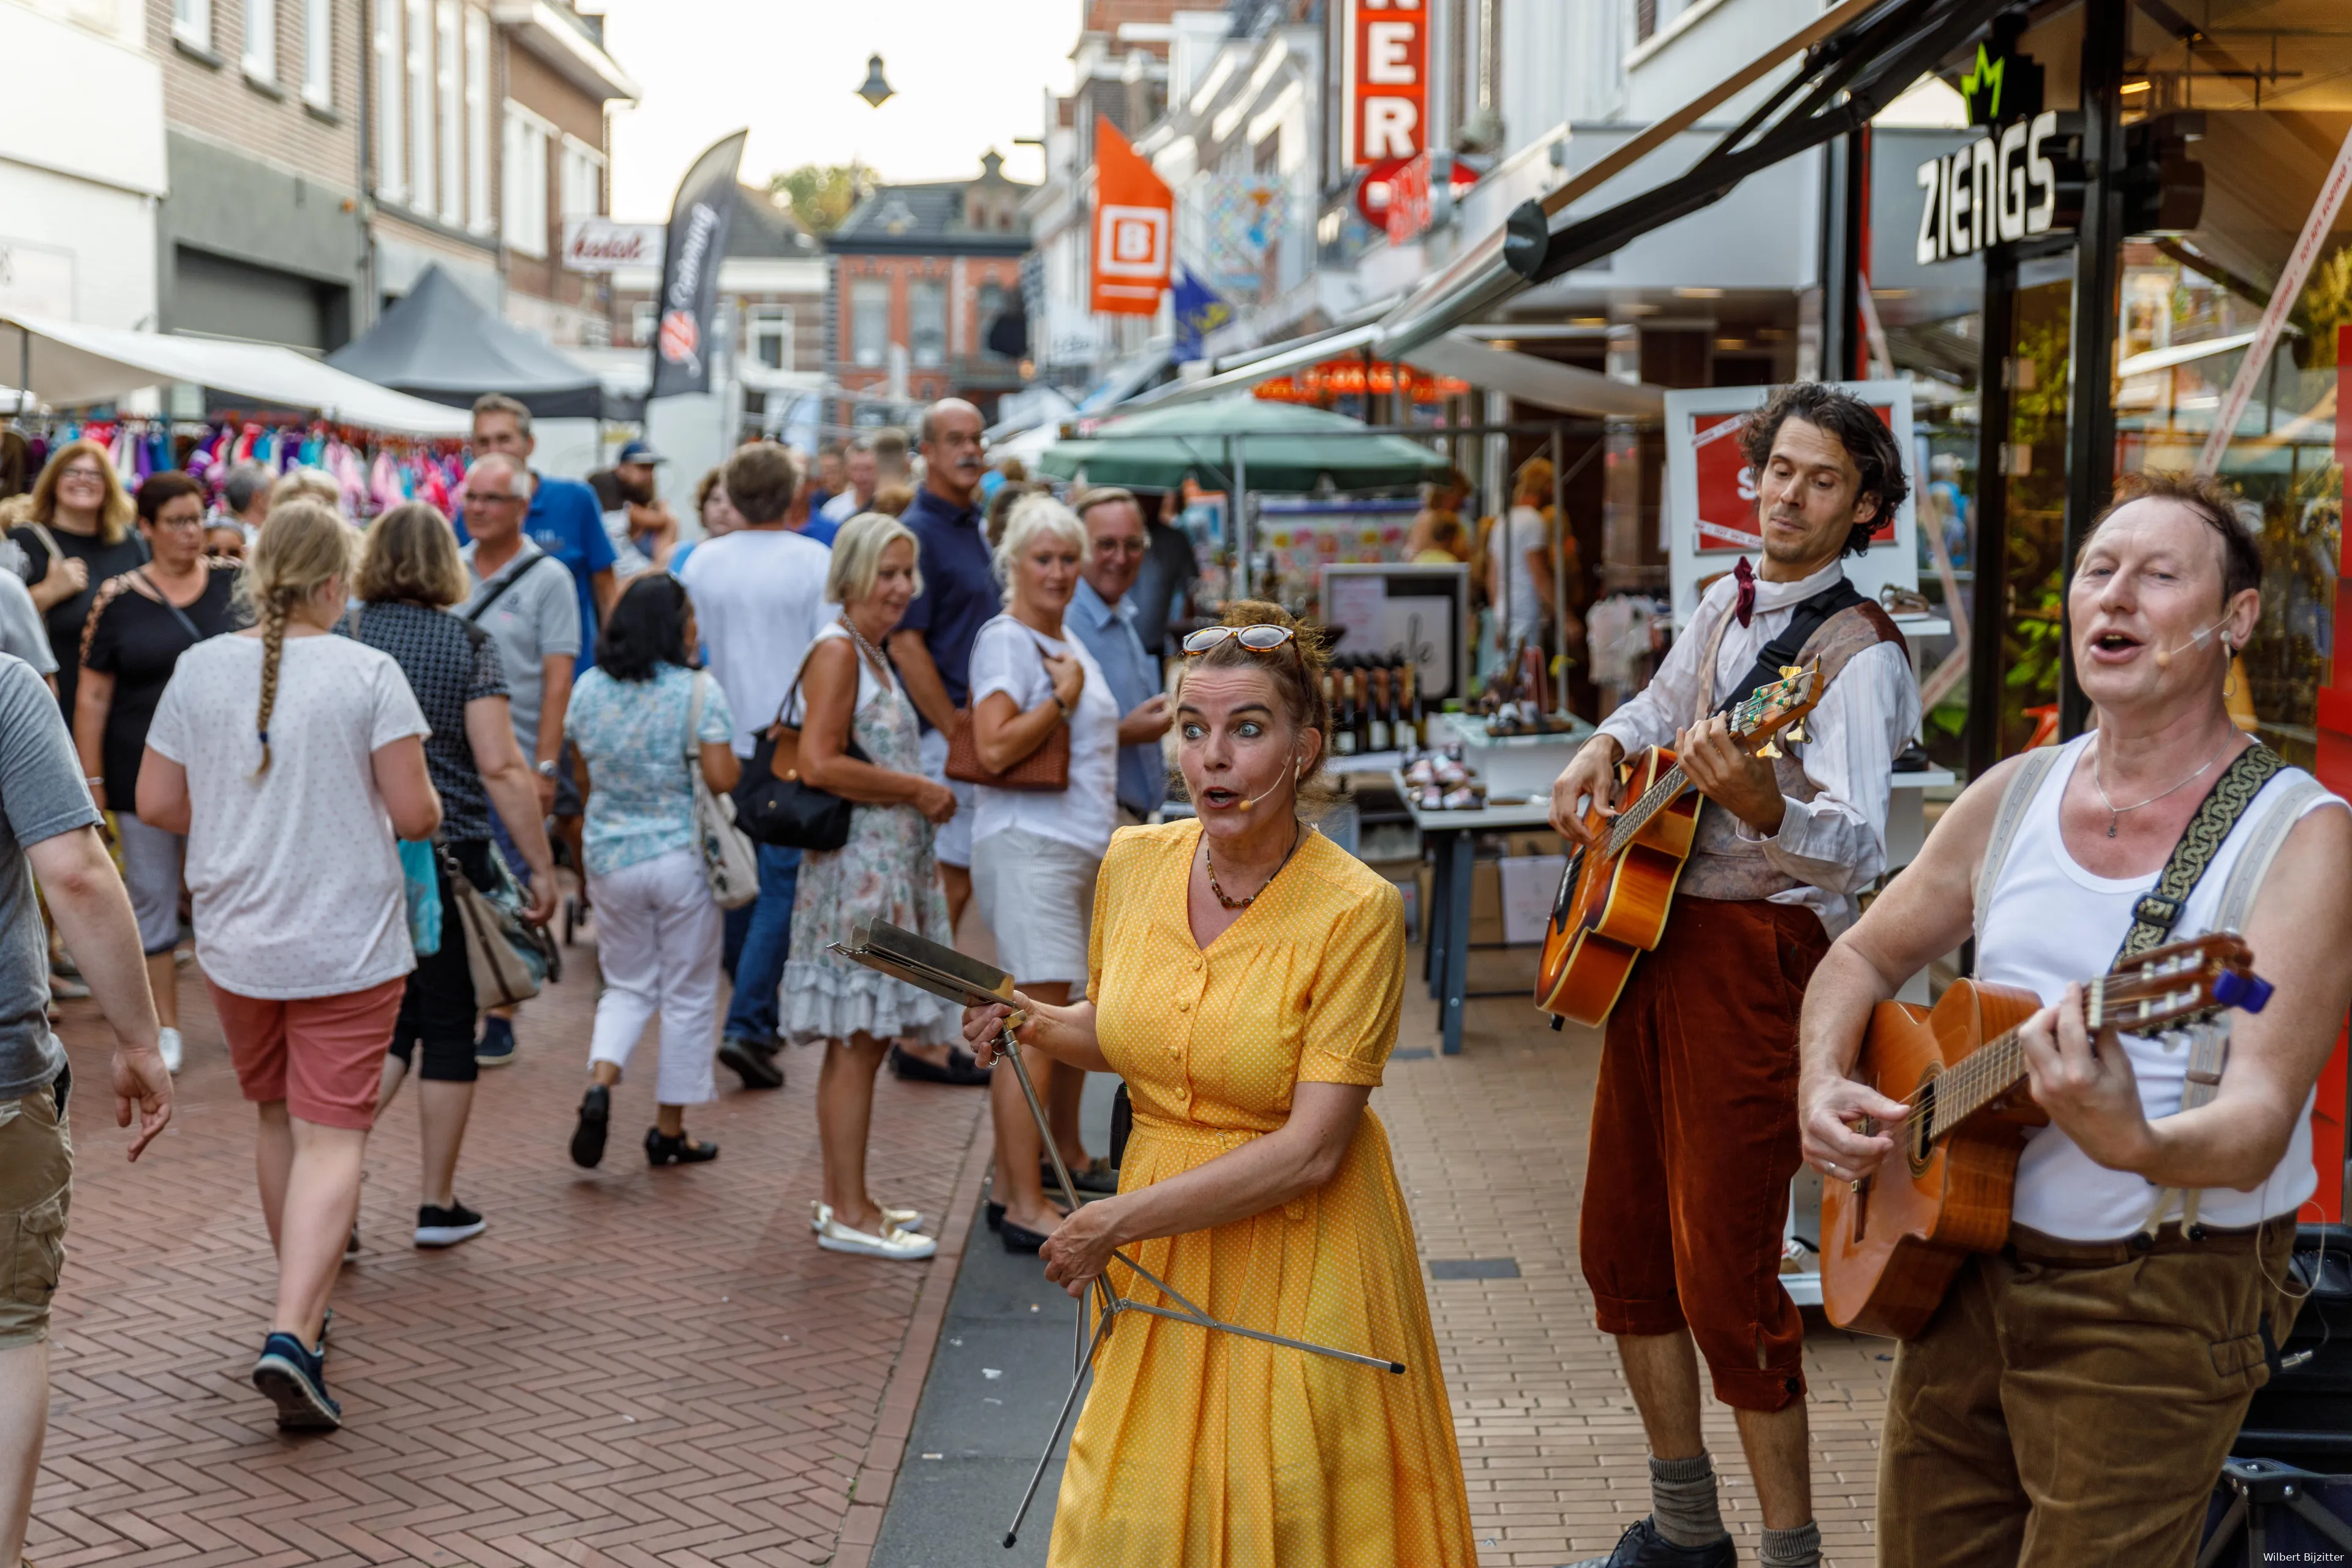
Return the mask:
[[[929,1258],[938,1246],[917,1234],[922,1215],[913,1208],[884,1208],[866,1192],[875,1072],[894,1037],[948,1041],[957,1023],[936,997],[849,964],[826,945],[847,943],[851,926],[873,922],[934,943],[955,940],[931,860],[931,827],[955,816],[955,795],[922,776],[915,705],[877,651],[917,592],[915,534],[906,524],[882,512],[844,522],[826,571],[826,599],[842,616],[809,644],[797,682],[800,778],[856,802],[856,811],[847,844],[800,860],[783,1032],[793,1044],[826,1041],[816,1079],[826,1197],[809,1215],[816,1244],[875,1258]],[[786,698],[786,708],[795,703]]]

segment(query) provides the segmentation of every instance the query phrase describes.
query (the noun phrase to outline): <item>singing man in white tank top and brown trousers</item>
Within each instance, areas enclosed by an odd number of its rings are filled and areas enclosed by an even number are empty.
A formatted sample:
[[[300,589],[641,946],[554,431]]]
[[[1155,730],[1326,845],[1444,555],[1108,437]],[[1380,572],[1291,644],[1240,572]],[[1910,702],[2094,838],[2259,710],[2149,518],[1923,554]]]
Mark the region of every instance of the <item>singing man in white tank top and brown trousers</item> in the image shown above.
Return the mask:
[[[2230,722],[2225,684],[2260,621],[2258,583],[2260,555],[2227,489],[2131,482],[2093,524],[2067,590],[2093,736],[2027,773],[2034,788],[2013,802],[1992,886],[1978,870],[2027,757],[1952,804],[1806,990],[1804,1154],[1835,1182],[1903,1175],[1884,1133],[1856,1131],[1905,1110],[1849,1077],[1877,1001],[1973,929],[1978,978],[2049,1004],[2023,1032],[2049,1126],[2018,1161],[2009,1246],[1962,1265],[1896,1356],[1879,1443],[1889,1568],[2185,1568],[2246,1403],[2293,1326],[2296,1293],[2281,1284],[2317,1180],[2312,1084],[2352,1001],[2352,811],[2281,766],[2183,900],[2169,940],[2225,919],[2246,860],[2239,884],[2253,891],[2237,924],[2277,983],[2267,1009],[2232,1016],[2209,1098],[2183,1110],[2185,1053],[2086,1034],[2079,985],[2114,961],[2133,905],[2216,780],[2249,776],[2239,755],[2256,743]],[[2272,813],[2284,837],[2265,842]],[[2267,872],[2260,856],[2274,856]]]

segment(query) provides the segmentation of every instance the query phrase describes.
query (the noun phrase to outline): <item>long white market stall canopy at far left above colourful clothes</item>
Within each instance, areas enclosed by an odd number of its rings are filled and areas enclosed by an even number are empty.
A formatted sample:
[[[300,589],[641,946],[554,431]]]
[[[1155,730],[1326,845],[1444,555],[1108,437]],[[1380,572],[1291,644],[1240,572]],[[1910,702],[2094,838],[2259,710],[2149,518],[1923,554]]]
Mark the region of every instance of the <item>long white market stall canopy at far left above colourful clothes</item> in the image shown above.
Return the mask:
[[[9,329],[21,334],[16,343],[9,343]],[[19,350],[14,360],[9,360],[12,348]],[[230,397],[308,409],[322,418],[386,435],[466,435],[468,430],[461,409],[346,376],[275,343],[181,339],[160,331],[54,322],[40,315],[0,315],[0,362],[9,367],[12,381],[24,367],[28,374],[21,378],[31,381],[31,395],[54,407],[118,402],[151,386],[186,381]]]

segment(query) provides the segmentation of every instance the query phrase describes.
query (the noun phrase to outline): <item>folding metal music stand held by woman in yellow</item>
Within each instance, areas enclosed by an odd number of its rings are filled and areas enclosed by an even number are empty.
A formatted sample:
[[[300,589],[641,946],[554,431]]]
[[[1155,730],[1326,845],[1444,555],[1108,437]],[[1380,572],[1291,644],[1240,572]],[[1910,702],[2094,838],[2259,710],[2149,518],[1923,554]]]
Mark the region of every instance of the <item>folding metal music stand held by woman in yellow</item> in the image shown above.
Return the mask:
[[[837,952],[851,964],[863,964],[891,980],[903,980],[915,990],[929,992],[934,997],[946,997],[960,1006],[1011,1006],[1014,1004],[1014,978],[1002,969],[969,959],[955,947],[943,947],[929,943],[913,931],[901,931],[887,922],[875,922],[870,926],[854,926],[849,943],[830,943],[828,952]],[[997,1051],[1002,1060],[1014,1065],[1014,1077],[1021,1081],[1021,1098],[1028,1100],[1030,1117],[1037,1121],[1037,1138],[1044,1143],[1047,1159],[1054,1161],[1054,1180],[1061,1185],[1061,1197],[1077,1213],[1077,1185],[1070,1182],[1070,1168],[1061,1159],[1061,1147],[1054,1143],[1054,1128],[1047,1126],[1044,1105],[1037,1100],[1037,1086],[1030,1084],[1028,1067],[1021,1063],[1018,1041],[1014,1030],[1025,1023],[1023,1013],[1016,1009],[1004,1020],[1004,1032],[997,1037]],[[1077,1394],[1087,1387],[1087,1371],[1094,1366],[1094,1352],[1103,1347],[1110,1338],[1110,1328],[1120,1321],[1122,1312],[1143,1312],[1150,1316],[1164,1316],[1176,1324],[1192,1324],[1195,1328],[1207,1328],[1211,1333],[1232,1333],[1244,1340],[1263,1340],[1268,1345],[1287,1345],[1289,1349],[1303,1349],[1310,1356],[1331,1356],[1334,1361],[1355,1361],[1357,1366],[1374,1366],[1385,1373],[1404,1373],[1404,1361],[1383,1361],[1381,1356],[1364,1356],[1352,1349],[1334,1349],[1331,1345],[1312,1345],[1310,1340],[1291,1340],[1279,1333],[1263,1333],[1258,1328],[1242,1328],[1240,1324],[1228,1324],[1223,1319],[1209,1316],[1183,1295],[1176,1293],[1164,1279],[1138,1265],[1127,1253],[1112,1251],[1115,1260],[1124,1262],[1136,1272],[1148,1286],[1160,1291],[1176,1307],[1155,1307],[1150,1302],[1138,1302],[1110,1284],[1110,1272],[1094,1276],[1094,1295],[1101,1300],[1103,1316],[1096,1321],[1094,1333],[1087,1333],[1087,1300],[1077,1302],[1077,1349],[1075,1349],[1075,1375],[1070,1378],[1070,1392],[1061,1401],[1061,1415],[1054,1418],[1054,1434],[1044,1441],[1044,1453],[1037,1455],[1037,1469],[1030,1472],[1030,1483],[1021,1490],[1021,1507],[1014,1509],[1014,1521],[1004,1530],[1004,1544],[1011,1547],[1021,1540],[1021,1521],[1028,1519],[1028,1507],[1037,1497],[1037,1483],[1044,1481],[1047,1465],[1054,1462],[1054,1446],[1061,1441],[1063,1427],[1070,1425],[1070,1413],[1077,1408]]]

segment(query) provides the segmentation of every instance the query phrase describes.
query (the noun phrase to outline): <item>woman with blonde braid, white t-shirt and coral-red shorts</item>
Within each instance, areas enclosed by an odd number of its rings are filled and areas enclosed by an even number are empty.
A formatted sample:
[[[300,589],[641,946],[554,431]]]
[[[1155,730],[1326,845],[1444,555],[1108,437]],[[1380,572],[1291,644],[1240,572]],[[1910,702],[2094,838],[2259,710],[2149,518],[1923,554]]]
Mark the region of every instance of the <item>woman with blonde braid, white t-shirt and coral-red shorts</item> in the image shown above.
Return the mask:
[[[139,764],[139,820],[188,835],[195,961],[261,1107],[278,1314],[254,1387],[289,1432],[343,1420],[325,1380],[327,1293],[416,966],[395,839],[433,837],[442,813],[400,665],[327,635],[353,538],[318,501],[270,508],[242,583],[256,625],[181,654]]]

